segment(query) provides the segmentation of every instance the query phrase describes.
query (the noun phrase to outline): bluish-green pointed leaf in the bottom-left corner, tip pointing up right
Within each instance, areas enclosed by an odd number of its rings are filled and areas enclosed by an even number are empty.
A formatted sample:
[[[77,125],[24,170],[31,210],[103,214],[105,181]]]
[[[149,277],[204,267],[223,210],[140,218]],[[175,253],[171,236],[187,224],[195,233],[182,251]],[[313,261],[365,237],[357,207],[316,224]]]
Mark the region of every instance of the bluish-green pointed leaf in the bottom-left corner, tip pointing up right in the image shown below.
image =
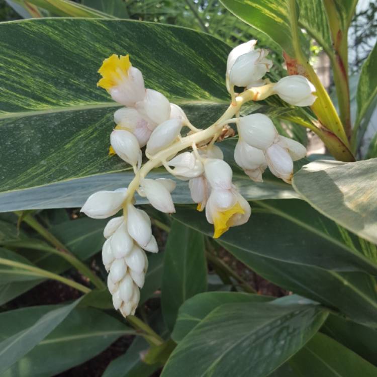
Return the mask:
[[[36,306],[1,313],[0,373],[7,370],[54,330],[79,301],[80,299],[64,306]]]

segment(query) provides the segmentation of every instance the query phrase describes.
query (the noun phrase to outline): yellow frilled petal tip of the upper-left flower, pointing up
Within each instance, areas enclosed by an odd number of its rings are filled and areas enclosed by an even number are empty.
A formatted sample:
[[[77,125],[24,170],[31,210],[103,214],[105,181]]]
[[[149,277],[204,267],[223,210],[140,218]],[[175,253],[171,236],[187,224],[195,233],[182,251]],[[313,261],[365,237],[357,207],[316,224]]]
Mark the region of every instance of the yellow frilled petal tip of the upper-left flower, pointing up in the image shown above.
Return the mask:
[[[131,67],[130,56],[118,56],[111,55],[101,65],[98,73],[101,74],[102,78],[98,81],[97,86],[101,86],[106,90],[109,90],[112,86],[117,85],[117,83],[122,79],[122,76],[128,75],[128,70]]]

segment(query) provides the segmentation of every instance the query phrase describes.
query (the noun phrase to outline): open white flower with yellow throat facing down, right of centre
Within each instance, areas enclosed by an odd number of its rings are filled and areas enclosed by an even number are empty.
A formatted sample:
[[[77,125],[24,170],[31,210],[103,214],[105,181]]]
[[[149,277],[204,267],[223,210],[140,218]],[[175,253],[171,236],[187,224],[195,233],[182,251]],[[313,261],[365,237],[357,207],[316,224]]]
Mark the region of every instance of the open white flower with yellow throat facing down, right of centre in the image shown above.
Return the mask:
[[[250,205],[235,189],[211,191],[206,217],[210,224],[214,224],[214,238],[220,237],[232,226],[246,223],[250,214]]]

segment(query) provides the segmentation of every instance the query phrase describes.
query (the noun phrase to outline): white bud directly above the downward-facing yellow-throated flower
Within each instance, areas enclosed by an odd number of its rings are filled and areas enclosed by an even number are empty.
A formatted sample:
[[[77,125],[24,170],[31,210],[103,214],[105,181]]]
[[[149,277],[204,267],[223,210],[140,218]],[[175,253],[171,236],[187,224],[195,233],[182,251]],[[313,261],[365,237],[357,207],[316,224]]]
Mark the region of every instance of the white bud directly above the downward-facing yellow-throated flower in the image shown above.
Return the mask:
[[[232,168],[223,160],[208,158],[204,172],[212,189],[230,189],[232,187]]]

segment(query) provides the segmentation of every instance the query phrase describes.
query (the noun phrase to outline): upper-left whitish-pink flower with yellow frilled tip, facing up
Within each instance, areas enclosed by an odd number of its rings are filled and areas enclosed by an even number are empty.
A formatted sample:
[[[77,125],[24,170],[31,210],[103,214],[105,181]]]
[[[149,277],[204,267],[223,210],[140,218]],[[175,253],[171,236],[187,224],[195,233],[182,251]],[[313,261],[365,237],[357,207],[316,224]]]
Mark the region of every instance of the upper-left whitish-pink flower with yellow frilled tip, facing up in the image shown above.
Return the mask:
[[[145,96],[143,75],[132,67],[129,56],[112,55],[105,59],[98,71],[102,78],[98,82],[108,90],[114,101],[124,106],[134,106]]]

